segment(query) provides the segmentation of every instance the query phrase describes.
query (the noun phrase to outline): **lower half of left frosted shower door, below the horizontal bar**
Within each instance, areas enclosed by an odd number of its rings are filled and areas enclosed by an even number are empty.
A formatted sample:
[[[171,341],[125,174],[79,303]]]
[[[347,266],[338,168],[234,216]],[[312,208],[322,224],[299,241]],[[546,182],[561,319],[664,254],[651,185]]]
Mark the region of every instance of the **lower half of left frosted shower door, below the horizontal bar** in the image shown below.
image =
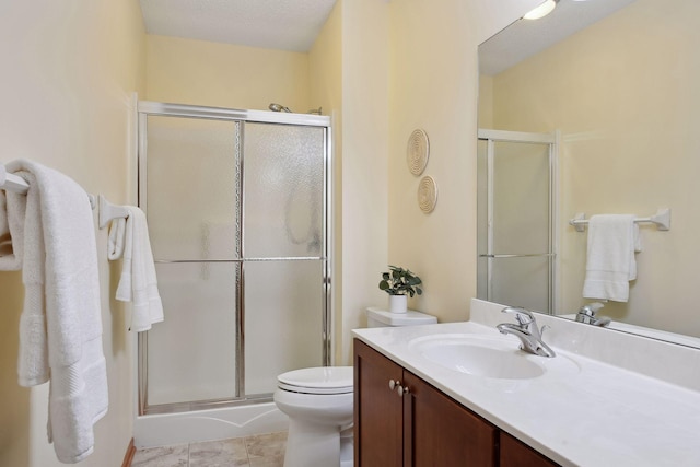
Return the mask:
[[[148,402],[232,399],[235,264],[159,264],[165,320],[148,331]]]

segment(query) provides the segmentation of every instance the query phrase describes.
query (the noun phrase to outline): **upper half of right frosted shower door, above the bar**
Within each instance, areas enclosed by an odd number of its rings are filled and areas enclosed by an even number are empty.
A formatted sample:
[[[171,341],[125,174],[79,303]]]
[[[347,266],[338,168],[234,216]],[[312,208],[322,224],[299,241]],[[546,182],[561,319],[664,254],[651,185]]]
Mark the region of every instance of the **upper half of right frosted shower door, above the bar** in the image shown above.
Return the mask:
[[[325,129],[248,122],[244,141],[245,257],[322,256]]]

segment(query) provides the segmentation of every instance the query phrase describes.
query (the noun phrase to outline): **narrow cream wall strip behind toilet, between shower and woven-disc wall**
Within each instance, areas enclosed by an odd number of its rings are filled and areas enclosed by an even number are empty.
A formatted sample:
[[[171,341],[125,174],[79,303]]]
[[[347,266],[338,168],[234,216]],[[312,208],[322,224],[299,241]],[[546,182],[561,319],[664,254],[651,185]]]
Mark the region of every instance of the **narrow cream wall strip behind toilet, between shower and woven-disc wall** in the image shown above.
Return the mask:
[[[386,305],[388,202],[389,5],[342,1],[342,358],[351,364],[350,330],[366,326],[365,310]],[[338,339],[338,337],[340,339]]]

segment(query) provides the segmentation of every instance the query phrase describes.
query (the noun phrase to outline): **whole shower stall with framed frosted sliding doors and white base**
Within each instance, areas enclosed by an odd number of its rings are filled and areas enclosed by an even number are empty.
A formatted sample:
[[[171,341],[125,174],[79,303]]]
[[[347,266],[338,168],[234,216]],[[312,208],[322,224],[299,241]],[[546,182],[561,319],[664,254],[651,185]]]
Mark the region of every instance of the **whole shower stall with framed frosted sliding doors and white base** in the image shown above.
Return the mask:
[[[140,102],[165,320],[138,339],[139,446],[285,429],[277,375],[330,362],[330,119]]]

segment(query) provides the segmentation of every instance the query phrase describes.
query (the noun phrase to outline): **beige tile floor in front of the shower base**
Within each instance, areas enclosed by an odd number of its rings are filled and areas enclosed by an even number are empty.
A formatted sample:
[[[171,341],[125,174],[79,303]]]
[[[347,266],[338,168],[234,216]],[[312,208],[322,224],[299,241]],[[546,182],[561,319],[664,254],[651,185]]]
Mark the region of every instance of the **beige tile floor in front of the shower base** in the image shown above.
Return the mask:
[[[131,467],[282,467],[287,432],[139,450]]]

